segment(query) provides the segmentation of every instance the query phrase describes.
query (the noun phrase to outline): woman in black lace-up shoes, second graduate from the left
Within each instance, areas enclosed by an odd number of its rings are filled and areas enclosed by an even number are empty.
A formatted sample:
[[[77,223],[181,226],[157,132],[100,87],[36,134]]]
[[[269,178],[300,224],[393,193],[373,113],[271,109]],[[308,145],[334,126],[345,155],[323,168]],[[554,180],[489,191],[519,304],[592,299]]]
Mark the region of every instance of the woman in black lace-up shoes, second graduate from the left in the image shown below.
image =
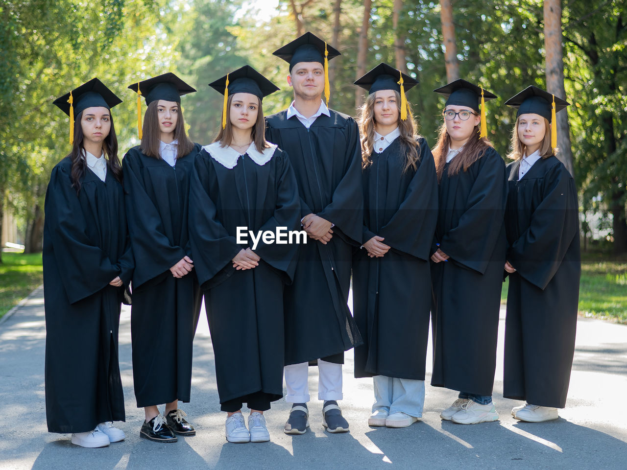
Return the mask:
[[[201,146],[187,137],[181,110],[181,96],[196,90],[174,73],[129,88],[147,104],[141,144],[123,161],[137,266],[131,309],[135,398],[145,411],[140,437],[173,442],[176,434],[196,434],[178,407],[179,400],[190,400],[194,319],[202,298],[187,231],[189,181]],[[160,404],[166,404],[165,416]]]

